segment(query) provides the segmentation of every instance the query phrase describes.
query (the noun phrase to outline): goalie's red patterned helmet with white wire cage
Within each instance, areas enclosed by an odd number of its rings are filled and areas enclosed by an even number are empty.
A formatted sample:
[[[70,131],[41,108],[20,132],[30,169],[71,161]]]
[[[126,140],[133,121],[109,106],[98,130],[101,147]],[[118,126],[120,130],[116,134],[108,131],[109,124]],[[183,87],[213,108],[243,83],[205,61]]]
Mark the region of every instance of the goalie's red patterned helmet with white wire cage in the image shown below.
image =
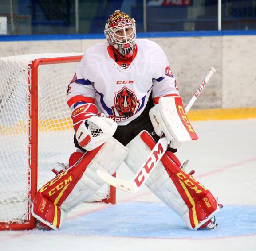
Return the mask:
[[[106,21],[104,34],[107,42],[123,57],[130,58],[134,51],[135,20],[126,13],[116,10]]]

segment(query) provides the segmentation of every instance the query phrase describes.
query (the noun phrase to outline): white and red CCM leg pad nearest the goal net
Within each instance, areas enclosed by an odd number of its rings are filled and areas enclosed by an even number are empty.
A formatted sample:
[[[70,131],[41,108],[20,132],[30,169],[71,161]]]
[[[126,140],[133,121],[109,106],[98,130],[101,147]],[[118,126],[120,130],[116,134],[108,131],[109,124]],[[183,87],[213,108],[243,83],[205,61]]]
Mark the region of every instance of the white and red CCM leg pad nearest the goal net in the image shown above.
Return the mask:
[[[126,154],[127,148],[113,137],[95,150],[82,154],[73,166],[39,189],[32,203],[32,215],[50,228],[59,229],[67,212],[104,185],[96,170],[114,174]]]

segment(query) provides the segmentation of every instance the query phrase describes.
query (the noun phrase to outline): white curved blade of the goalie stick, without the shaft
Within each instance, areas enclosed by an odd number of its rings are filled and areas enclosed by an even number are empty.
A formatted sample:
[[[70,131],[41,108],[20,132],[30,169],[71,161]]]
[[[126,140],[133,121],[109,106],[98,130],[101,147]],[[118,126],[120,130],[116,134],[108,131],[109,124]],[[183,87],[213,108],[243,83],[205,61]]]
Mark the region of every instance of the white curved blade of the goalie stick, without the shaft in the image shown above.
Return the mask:
[[[121,189],[123,191],[129,192],[129,193],[137,193],[138,189],[134,189],[133,183],[130,181],[124,181],[118,178],[113,177],[112,175],[102,171],[102,170],[96,170],[96,173],[98,174],[98,177],[101,178],[103,181],[108,183],[109,185],[112,185],[118,189]]]

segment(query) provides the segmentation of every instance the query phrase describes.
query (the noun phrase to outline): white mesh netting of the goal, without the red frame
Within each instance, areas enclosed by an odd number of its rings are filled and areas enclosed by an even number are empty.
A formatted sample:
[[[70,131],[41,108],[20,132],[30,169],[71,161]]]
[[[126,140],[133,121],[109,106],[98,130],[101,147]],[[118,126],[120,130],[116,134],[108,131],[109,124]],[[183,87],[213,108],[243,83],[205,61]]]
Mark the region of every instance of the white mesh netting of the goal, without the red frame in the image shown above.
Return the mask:
[[[0,58],[0,222],[24,222],[29,215],[29,72],[35,58],[78,54],[37,54]],[[68,162],[73,127],[66,104],[75,63],[40,65],[38,70],[38,188]]]

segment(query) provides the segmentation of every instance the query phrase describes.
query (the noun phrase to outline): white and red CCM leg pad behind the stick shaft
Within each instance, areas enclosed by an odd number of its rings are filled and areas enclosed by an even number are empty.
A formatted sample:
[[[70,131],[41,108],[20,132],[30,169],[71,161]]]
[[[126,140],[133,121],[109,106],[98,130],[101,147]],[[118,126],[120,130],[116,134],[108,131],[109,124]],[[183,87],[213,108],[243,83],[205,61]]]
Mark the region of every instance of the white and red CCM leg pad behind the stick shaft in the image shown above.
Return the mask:
[[[142,131],[128,143],[125,162],[134,174],[145,162],[155,144],[147,131]],[[148,164],[150,165],[150,162]],[[146,185],[161,201],[181,216],[190,229],[205,227],[219,211],[217,201],[210,191],[185,173],[171,152],[164,154],[161,162],[150,174]]]

